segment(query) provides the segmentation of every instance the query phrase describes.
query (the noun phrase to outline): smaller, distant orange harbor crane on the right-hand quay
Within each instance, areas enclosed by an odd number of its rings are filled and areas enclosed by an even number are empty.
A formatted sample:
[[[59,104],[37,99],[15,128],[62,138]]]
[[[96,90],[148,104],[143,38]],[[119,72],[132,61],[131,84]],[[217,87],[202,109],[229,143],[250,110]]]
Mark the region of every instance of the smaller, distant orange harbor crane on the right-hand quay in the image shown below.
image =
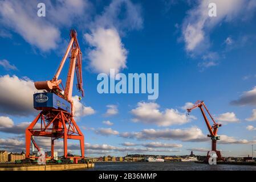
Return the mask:
[[[214,121],[214,118],[212,117],[212,115],[210,114],[209,110],[207,109],[204,101],[197,101],[191,108],[187,109],[188,111],[188,114],[191,113],[191,111],[193,109],[196,109],[197,107],[199,107],[199,109],[201,110],[201,113],[202,113],[202,116],[204,117],[204,120],[205,120],[205,123],[206,123],[206,126],[209,130],[209,135],[207,135],[208,137],[210,137],[212,139],[212,151],[215,151],[216,154],[217,154],[217,160],[223,160],[223,158],[221,157],[221,152],[220,151],[217,151],[217,148],[216,148],[216,144],[217,144],[217,140],[220,140],[220,136],[217,135],[217,132],[218,132],[218,127],[221,126],[221,124],[219,125],[218,123],[216,123]],[[211,126],[210,122],[209,122],[209,119],[207,118],[206,114],[205,114],[205,111],[204,109],[206,110],[206,112],[208,113],[208,115],[210,116],[210,119],[213,121],[213,125]],[[209,151],[207,153],[207,159],[209,159]]]

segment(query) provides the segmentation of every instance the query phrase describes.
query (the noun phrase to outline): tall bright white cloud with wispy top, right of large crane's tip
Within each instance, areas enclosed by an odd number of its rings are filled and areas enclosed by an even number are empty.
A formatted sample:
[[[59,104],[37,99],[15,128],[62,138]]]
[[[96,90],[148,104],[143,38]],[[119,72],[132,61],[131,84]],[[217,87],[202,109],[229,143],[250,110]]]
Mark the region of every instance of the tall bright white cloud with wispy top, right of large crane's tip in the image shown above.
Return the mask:
[[[111,68],[116,72],[126,68],[128,51],[120,35],[139,30],[142,26],[140,5],[129,0],[113,0],[106,6],[103,13],[91,23],[91,34],[84,34],[91,47],[88,58],[92,71],[109,73]]]

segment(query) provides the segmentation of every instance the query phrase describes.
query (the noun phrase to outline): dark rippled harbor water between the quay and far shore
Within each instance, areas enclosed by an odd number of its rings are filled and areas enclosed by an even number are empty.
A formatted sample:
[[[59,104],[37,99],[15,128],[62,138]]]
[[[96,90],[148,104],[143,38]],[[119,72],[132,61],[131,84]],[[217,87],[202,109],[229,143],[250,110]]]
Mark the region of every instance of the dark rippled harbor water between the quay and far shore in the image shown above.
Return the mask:
[[[237,170],[237,171],[256,171],[256,166],[240,166],[228,164],[197,164],[194,162],[165,162],[165,163],[143,163],[143,162],[96,162],[92,171],[133,171],[133,170],[149,170],[149,171],[182,171],[182,170],[200,170],[200,171],[216,171],[216,170]]]

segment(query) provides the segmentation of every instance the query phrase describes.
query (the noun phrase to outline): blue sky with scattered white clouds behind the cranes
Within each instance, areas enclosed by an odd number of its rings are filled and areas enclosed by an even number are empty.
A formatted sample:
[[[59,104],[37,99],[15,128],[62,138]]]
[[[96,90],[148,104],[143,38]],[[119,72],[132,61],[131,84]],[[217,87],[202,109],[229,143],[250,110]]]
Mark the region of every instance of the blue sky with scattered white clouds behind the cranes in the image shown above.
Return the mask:
[[[224,124],[217,146],[222,155],[251,154],[256,143],[254,1],[211,1],[217,17],[208,16],[209,1],[40,2],[46,17],[37,16],[37,1],[0,1],[1,149],[23,150],[23,131],[38,113],[32,108],[33,82],[54,76],[75,28],[86,93],[75,102],[76,121],[86,155],[186,155],[190,150],[205,155],[210,140],[200,110],[188,118],[182,109],[197,100]],[[97,74],[109,68],[125,75],[159,73],[159,98],[97,93]],[[67,69],[68,64],[63,80]],[[75,87],[73,95],[79,96]],[[50,146],[48,140],[38,142],[45,150]],[[70,152],[78,152],[75,144],[70,141]],[[61,152],[61,141],[58,147]]]

